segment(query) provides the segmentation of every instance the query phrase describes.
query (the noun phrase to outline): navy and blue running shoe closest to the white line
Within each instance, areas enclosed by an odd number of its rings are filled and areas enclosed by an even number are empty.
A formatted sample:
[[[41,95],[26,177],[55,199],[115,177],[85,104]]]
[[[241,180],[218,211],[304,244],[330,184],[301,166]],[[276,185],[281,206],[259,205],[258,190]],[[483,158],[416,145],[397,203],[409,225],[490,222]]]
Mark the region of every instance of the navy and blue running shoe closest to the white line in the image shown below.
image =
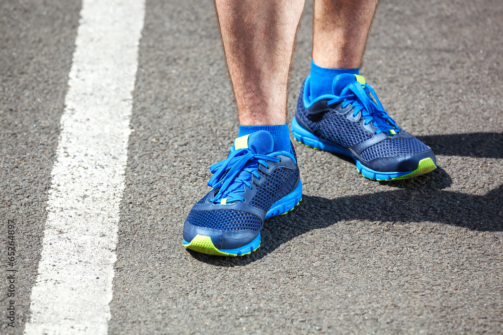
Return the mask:
[[[286,214],[302,199],[297,157],[273,151],[266,131],[238,137],[227,159],[210,167],[212,187],[189,212],[183,245],[218,256],[247,255],[260,247],[266,218]]]

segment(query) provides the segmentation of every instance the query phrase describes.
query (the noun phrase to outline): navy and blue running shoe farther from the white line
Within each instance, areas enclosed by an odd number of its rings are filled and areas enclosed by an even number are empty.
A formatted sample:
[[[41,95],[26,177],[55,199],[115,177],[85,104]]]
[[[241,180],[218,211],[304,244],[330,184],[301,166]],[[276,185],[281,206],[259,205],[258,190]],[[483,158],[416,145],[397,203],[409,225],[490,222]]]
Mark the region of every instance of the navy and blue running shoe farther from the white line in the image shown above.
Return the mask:
[[[432,149],[398,127],[365,78],[340,74],[332,95],[309,96],[307,77],[292,120],[293,137],[314,149],[353,158],[372,180],[415,177],[437,168]]]

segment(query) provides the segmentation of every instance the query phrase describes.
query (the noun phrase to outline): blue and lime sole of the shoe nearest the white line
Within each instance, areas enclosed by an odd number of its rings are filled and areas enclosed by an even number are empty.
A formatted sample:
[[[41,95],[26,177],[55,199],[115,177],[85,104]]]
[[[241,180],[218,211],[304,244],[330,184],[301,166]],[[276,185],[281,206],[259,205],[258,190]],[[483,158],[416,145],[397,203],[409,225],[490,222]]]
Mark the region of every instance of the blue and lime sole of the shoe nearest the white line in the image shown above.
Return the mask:
[[[268,219],[277,215],[288,214],[288,212],[292,211],[295,206],[300,203],[300,201],[302,201],[302,183],[299,180],[299,184],[293,191],[273,203],[273,205],[267,211],[266,217],[264,219]],[[256,251],[260,247],[260,242],[261,238],[259,233],[259,235],[253,241],[240,248],[218,249],[217,247],[215,247],[209,236],[196,235],[190,243],[183,240],[183,245],[187,249],[191,249],[207,255],[235,257],[248,255]]]

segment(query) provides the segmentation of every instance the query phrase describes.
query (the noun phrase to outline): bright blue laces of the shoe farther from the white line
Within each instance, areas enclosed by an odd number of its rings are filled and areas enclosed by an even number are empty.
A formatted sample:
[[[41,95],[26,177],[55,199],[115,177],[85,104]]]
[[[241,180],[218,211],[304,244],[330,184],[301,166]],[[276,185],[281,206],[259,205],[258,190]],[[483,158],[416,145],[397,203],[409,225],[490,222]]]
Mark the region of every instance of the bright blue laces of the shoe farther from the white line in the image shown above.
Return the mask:
[[[372,94],[373,99],[370,97]],[[374,89],[368,85],[362,85],[360,82],[355,81],[346,86],[342,95],[327,101],[327,104],[342,103],[342,107],[345,108],[351,103],[353,106],[353,116],[356,117],[359,111],[362,111],[362,117],[365,119],[365,125],[370,122],[378,130],[376,134],[381,132],[387,133],[399,133],[400,129],[396,125],[395,121],[386,113],[384,107],[379,101]],[[393,131],[393,132],[391,132]]]

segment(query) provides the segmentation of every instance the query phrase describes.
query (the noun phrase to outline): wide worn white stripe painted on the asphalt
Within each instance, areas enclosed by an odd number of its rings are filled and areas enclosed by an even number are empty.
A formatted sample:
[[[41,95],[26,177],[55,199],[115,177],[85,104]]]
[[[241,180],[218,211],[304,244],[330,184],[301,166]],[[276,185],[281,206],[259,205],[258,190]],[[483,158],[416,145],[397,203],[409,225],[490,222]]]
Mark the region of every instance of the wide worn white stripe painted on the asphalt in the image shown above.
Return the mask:
[[[106,334],[144,0],[83,0],[26,334]]]

